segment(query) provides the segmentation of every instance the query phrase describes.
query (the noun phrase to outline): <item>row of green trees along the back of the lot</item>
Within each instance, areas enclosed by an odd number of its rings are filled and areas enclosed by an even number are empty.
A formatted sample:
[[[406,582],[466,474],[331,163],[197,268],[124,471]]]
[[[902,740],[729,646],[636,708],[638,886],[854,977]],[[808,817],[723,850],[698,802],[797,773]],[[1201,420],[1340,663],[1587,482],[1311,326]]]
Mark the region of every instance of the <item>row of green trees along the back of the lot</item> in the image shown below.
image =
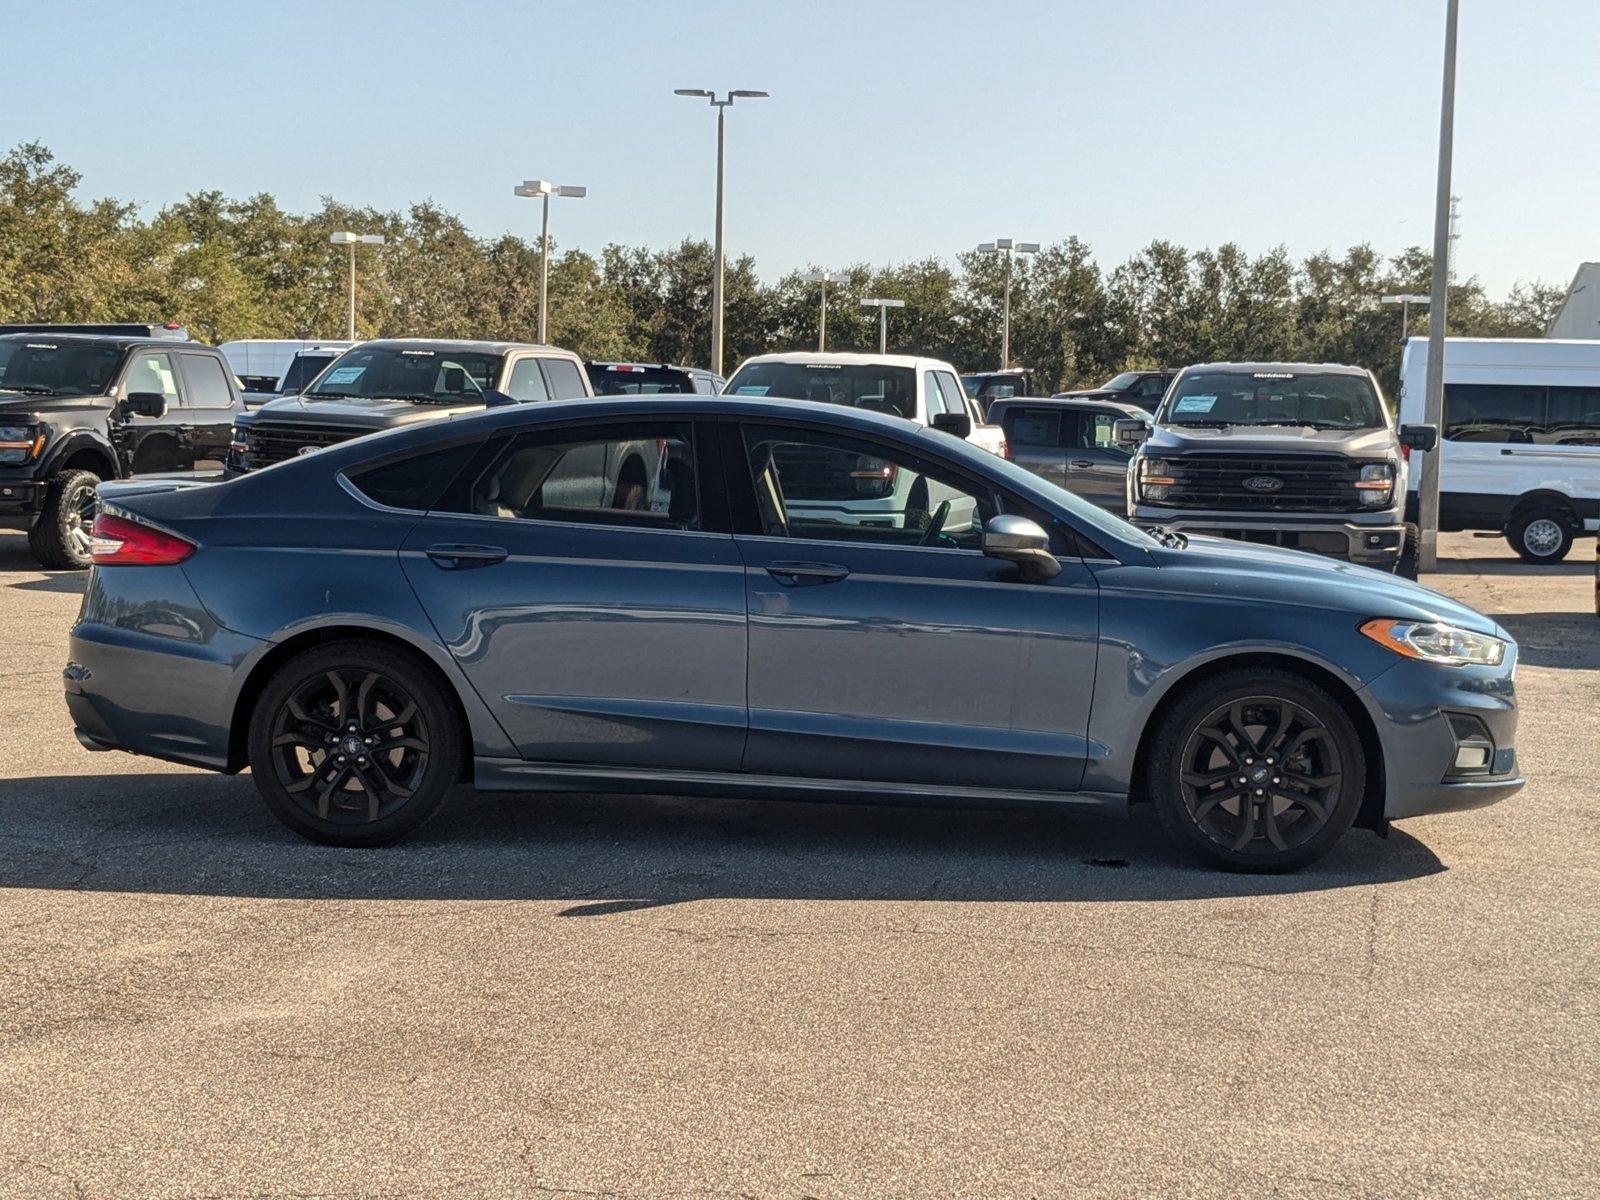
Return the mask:
[[[538,325],[538,245],[475,237],[430,202],[403,213],[323,198],[285,213],[266,194],[243,200],[195,192],[150,218],[102,198],[83,203],[80,176],[48,149],[22,144],[0,160],[0,320],[182,322],[203,341],[341,336],[346,310],[339,229],[382,234],[358,248],[362,338],[434,336],[531,341]],[[877,347],[877,314],[862,296],[904,299],[890,315],[890,349],[931,354],[960,370],[1000,357],[1003,266],[968,251],[856,264],[829,285],[835,350]],[[1293,259],[1280,246],[1187,250],[1155,240],[1112,269],[1075,237],[1019,259],[1011,290],[1011,357],[1045,387],[1101,382],[1122,370],[1192,362],[1285,358],[1374,370],[1394,394],[1400,314],[1386,293],[1429,290],[1430,254]],[[667,250],[608,245],[550,261],[550,341],[586,358],[704,365],[710,346],[712,251],[686,238]],[[763,282],[749,256],[725,280],[728,368],[750,354],[814,349],[818,285],[790,272]],[[1477,278],[1450,294],[1450,333],[1541,336],[1562,299],[1546,283],[1499,299]],[[1421,333],[1426,309],[1413,310]]]

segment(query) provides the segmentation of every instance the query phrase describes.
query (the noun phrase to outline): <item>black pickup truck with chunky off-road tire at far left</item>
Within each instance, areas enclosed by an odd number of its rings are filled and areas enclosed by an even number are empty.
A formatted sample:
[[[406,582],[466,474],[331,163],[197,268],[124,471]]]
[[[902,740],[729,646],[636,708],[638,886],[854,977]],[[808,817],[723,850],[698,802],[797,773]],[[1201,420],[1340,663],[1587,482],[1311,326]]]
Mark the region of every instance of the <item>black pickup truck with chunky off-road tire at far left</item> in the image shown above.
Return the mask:
[[[85,568],[101,480],[221,469],[243,411],[227,360],[176,326],[0,326],[0,528]]]

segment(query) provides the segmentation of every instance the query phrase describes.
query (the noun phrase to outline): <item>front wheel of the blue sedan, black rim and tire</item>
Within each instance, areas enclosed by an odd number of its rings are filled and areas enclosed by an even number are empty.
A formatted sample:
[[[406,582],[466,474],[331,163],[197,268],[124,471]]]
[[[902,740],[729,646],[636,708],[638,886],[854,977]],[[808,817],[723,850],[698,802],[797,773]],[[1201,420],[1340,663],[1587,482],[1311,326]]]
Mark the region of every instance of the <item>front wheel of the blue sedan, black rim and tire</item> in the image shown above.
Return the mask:
[[[1163,717],[1146,778],[1174,842],[1224,870],[1275,874],[1315,862],[1350,827],[1366,755],[1349,714],[1310,680],[1230,670]]]

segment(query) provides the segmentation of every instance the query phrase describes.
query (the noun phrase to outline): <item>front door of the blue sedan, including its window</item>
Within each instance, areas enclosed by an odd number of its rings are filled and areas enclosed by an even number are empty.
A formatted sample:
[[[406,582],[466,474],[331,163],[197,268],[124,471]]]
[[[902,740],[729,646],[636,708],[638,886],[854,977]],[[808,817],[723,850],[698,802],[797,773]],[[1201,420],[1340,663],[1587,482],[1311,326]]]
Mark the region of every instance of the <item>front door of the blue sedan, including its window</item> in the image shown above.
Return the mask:
[[[726,422],[749,608],[758,774],[1072,790],[1083,776],[1099,598],[1077,558],[1045,584],[982,555],[1013,506],[982,478],[904,443],[805,426]],[[872,464],[965,496],[941,528],[789,510],[784,464]]]

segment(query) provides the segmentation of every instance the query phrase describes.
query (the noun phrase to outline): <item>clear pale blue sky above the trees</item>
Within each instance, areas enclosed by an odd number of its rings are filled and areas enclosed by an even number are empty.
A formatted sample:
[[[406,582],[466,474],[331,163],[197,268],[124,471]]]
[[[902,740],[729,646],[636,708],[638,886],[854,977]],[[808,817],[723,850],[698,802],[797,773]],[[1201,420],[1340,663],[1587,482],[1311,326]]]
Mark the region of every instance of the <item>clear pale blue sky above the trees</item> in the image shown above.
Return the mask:
[[[1600,3],[1464,0],[1458,270],[1493,291],[1600,258]],[[0,144],[86,197],[434,198],[474,232],[709,237],[795,266],[952,258],[997,235],[1294,254],[1427,243],[1445,0],[5,0]]]

